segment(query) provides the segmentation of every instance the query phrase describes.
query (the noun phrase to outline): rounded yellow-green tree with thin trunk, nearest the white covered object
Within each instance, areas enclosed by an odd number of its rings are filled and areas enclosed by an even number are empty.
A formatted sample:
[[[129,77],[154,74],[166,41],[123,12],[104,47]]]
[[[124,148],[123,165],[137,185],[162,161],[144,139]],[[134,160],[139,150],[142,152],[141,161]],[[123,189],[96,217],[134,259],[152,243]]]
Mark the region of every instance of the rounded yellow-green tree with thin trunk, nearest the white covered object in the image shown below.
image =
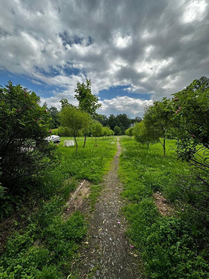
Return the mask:
[[[81,111],[75,107],[64,106],[64,108],[60,111],[60,123],[62,126],[67,127],[72,131],[76,144],[76,152],[78,150],[76,136],[79,131],[87,128],[88,123],[90,123],[90,119],[91,117],[89,113]]]

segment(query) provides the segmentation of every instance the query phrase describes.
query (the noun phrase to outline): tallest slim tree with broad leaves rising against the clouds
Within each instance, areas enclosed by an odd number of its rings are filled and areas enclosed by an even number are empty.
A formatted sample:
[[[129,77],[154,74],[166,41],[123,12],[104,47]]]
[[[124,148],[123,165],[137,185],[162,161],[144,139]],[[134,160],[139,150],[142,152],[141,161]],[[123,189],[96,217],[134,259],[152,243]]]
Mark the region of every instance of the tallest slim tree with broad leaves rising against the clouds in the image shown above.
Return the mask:
[[[78,107],[80,110],[84,110],[85,112],[88,112],[91,117],[95,116],[96,110],[102,106],[102,104],[98,104],[99,98],[96,97],[91,93],[91,80],[86,79],[86,84],[83,82],[82,84],[80,82],[77,83],[77,89],[75,89],[75,97],[79,105]],[[84,146],[86,144],[86,133],[85,133],[85,139],[84,139]]]

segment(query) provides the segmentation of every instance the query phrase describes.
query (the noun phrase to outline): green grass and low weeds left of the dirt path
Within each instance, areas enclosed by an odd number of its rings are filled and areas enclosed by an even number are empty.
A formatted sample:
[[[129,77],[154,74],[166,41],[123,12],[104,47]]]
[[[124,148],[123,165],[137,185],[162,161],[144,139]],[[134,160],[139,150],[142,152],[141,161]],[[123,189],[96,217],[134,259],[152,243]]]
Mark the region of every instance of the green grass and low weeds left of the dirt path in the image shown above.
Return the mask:
[[[87,224],[80,212],[64,221],[63,205],[80,179],[94,183],[90,204],[99,194],[97,184],[109,168],[116,153],[116,137],[100,141],[83,138],[75,146],[58,146],[57,165],[44,178],[37,178],[35,192],[27,205],[19,208],[14,229],[0,258],[0,279],[62,279],[70,275],[71,261],[76,258],[78,242],[86,235]],[[60,163],[59,163],[60,161]],[[94,186],[93,185],[93,186]],[[42,241],[33,245],[36,239]],[[73,276],[70,276],[73,279]]]

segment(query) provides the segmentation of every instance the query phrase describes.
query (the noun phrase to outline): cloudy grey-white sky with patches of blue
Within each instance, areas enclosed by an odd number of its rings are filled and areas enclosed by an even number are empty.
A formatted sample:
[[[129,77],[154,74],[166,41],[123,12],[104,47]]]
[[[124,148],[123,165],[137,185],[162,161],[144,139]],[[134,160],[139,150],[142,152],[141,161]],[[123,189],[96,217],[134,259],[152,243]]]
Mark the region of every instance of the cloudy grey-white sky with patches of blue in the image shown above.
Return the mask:
[[[91,79],[98,113],[145,105],[209,77],[208,0],[0,0],[0,85],[74,105]]]

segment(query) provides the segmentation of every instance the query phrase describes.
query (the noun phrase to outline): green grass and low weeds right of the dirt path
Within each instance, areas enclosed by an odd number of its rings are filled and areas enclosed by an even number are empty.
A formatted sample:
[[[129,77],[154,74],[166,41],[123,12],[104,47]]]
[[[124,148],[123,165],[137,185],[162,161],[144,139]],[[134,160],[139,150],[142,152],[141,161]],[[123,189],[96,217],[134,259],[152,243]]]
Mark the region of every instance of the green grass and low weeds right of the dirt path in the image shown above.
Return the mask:
[[[151,278],[209,278],[208,214],[199,201],[176,185],[176,176],[187,168],[175,159],[166,143],[163,158],[161,144],[147,147],[134,139],[121,138],[119,176],[124,183],[122,198],[127,200],[123,213],[128,220],[127,235],[139,251]],[[160,214],[153,192],[159,191],[172,202],[173,216]]]

